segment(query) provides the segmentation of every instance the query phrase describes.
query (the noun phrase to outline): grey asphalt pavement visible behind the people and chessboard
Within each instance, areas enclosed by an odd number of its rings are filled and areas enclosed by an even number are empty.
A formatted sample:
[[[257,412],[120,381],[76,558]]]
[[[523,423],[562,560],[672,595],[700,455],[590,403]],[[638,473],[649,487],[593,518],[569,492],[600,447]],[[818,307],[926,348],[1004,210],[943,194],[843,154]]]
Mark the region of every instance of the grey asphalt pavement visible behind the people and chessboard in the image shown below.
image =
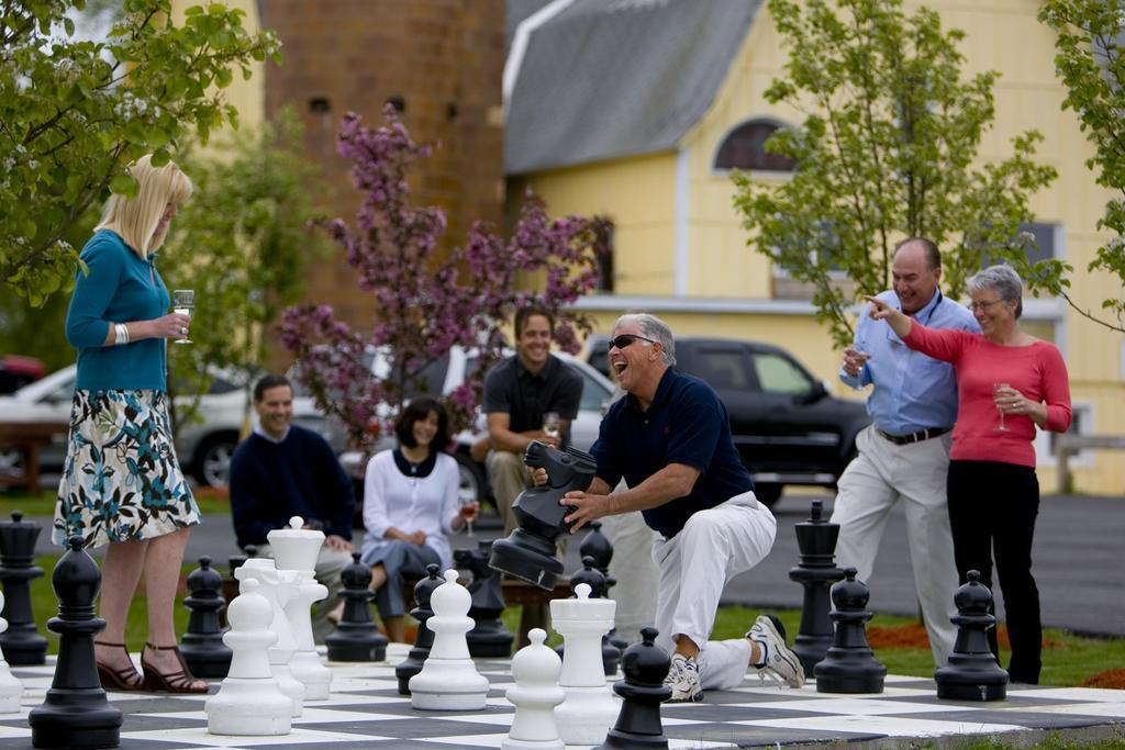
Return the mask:
[[[793,525],[808,518],[812,497],[786,496],[774,508],[778,522],[774,549],[757,568],[731,581],[724,595],[727,603],[755,607],[801,606],[801,586],[789,579],[789,570],[799,558]],[[830,512],[831,496],[819,497],[826,501],[826,512]],[[46,525],[46,519],[43,521]],[[478,540],[495,539],[500,534],[495,518],[484,518],[477,526],[471,540],[464,534],[456,535],[454,546],[475,546]],[[1044,625],[1078,633],[1125,636],[1125,597],[1120,594],[1125,562],[1123,539],[1125,498],[1050,496],[1043,499],[1033,559]],[[569,545],[567,570],[579,567],[577,550],[577,543]],[[52,548],[44,533],[37,551],[51,552],[57,548]],[[189,560],[207,554],[216,564],[225,564],[235,551],[228,516],[208,516],[188,543]],[[904,516],[899,508],[888,522],[875,573],[870,581],[873,611],[917,613],[909,557]]]

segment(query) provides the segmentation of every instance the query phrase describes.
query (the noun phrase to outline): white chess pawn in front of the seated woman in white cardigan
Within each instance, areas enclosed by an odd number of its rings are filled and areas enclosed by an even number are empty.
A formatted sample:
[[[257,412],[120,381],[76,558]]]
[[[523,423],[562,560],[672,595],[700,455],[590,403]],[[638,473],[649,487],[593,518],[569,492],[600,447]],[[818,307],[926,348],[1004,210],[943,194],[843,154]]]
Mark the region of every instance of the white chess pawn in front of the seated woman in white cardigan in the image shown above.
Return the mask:
[[[488,678],[472,659],[465,634],[472,629],[468,616],[472,602],[468,589],[457,582],[457,571],[446,571],[446,582],[430,597],[433,616],[433,647],[422,671],[411,678],[411,705],[424,711],[479,711],[488,697]]]

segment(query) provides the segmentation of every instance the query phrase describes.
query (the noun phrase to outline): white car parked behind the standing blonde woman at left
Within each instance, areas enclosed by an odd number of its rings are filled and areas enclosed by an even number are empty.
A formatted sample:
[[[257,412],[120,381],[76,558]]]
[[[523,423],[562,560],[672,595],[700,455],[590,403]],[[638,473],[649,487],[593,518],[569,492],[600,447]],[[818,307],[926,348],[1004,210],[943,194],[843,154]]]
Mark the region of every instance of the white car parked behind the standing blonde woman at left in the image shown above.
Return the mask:
[[[4,422],[70,422],[76,365],[65,367],[42,380],[27,385],[10,396],[0,396],[0,418]],[[196,417],[184,424],[176,441],[180,466],[200,485],[226,484],[231,457],[238,443],[245,413],[245,395],[230,373],[213,373],[207,395],[199,399]],[[181,399],[178,399],[180,403]],[[184,397],[182,403],[189,399]],[[294,399],[294,421],[324,434],[324,417],[313,408],[312,399]],[[39,458],[40,469],[62,471],[66,458],[66,436],[56,435]],[[0,449],[0,472],[21,471],[19,453]]]

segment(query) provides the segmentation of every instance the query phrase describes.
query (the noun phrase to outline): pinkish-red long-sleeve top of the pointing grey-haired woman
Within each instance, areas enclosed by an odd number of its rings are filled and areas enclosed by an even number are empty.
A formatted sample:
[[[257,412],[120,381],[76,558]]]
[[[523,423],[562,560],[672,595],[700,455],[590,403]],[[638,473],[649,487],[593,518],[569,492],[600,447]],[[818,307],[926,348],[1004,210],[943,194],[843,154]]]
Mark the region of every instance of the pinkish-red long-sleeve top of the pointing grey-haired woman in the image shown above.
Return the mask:
[[[914,323],[903,338],[910,349],[953,364],[957,376],[957,424],[950,458],[1035,466],[1035,423],[1029,416],[1006,414],[1007,432],[997,432],[1000,413],[992,400],[996,383],[1008,383],[1025,397],[1046,404],[1044,430],[1070,427],[1070,380],[1059,349],[1036,341],[1027,346],[1001,346],[978,333],[927,328]]]

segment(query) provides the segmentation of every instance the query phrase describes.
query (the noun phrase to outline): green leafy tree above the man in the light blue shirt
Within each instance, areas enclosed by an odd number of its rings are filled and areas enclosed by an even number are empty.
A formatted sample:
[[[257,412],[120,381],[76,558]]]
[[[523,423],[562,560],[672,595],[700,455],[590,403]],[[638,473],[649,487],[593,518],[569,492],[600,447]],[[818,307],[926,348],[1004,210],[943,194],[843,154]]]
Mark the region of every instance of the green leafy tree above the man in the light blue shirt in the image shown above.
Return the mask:
[[[806,115],[766,143],[796,160],[777,187],[736,173],[735,205],[748,244],[813,288],[817,318],[837,344],[852,337],[847,307],[888,287],[894,243],[925,235],[943,249],[947,290],[958,295],[982,261],[1006,261],[1043,287],[1063,264],[1030,268],[1028,197],[1055,177],[1033,161],[1040,135],[979,163],[994,116],[997,73],[963,80],[958,30],[910,16],[901,0],[770,0],[789,48],[785,75],[765,96]],[[835,280],[846,273],[852,287]]]

